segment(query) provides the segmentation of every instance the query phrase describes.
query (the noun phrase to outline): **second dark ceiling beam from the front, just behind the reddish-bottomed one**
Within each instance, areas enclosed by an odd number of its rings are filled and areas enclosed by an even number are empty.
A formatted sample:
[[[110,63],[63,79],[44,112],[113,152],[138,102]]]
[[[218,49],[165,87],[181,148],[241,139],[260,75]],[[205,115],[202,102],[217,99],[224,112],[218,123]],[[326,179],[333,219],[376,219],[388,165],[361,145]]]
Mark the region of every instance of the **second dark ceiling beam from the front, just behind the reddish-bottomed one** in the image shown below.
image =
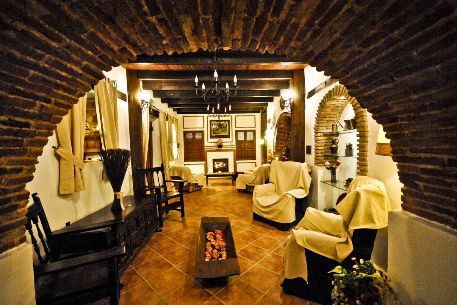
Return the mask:
[[[221,80],[233,80],[236,78],[241,80],[290,80],[292,78],[292,70],[256,70],[256,71],[218,71]],[[198,76],[200,81],[211,81],[213,73],[209,71],[153,71],[139,70],[138,78],[141,80],[153,81],[193,81],[195,76]]]

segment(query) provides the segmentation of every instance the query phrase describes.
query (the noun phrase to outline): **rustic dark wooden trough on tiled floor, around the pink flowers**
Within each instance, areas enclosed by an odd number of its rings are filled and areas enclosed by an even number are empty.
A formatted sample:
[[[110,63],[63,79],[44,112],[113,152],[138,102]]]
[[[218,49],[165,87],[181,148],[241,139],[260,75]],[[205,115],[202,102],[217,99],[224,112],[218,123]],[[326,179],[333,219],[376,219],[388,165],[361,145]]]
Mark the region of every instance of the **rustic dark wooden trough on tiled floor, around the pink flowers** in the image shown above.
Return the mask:
[[[205,261],[206,233],[222,231],[222,239],[226,243],[227,258]],[[195,263],[196,279],[215,279],[240,274],[230,219],[228,217],[202,217],[198,233],[197,261]]]

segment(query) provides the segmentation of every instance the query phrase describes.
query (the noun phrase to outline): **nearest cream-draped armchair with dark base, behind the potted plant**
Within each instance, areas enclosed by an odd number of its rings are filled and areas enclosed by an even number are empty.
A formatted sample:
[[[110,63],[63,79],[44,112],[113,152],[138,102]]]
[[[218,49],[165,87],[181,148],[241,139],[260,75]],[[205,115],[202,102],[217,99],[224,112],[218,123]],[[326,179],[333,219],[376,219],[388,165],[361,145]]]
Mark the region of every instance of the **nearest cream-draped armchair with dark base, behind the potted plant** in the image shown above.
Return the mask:
[[[336,205],[339,215],[306,209],[305,216],[285,241],[286,294],[320,304],[332,304],[328,272],[345,268],[351,258],[371,258],[377,229],[387,227],[390,202],[383,182],[358,176],[346,197]]]

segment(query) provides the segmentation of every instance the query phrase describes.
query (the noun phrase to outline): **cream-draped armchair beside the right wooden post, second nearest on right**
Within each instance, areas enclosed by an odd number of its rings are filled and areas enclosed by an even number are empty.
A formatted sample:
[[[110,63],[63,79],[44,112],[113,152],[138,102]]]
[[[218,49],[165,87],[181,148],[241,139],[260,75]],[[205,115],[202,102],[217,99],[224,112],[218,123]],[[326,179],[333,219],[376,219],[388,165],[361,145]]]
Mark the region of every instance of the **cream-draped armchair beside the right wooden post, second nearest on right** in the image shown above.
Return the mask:
[[[270,183],[255,186],[252,194],[254,219],[287,231],[304,215],[310,184],[307,163],[272,161]]]

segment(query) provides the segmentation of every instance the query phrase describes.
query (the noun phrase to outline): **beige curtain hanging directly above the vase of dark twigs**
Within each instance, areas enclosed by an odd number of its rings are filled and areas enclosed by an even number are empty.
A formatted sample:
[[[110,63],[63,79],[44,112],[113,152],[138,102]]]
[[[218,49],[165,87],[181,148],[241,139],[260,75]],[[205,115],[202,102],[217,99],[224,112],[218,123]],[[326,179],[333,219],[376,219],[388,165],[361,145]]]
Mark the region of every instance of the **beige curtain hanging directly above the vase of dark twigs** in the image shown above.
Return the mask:
[[[119,124],[117,122],[117,88],[112,80],[102,79],[94,88],[97,119],[100,124],[103,149],[119,148]]]

